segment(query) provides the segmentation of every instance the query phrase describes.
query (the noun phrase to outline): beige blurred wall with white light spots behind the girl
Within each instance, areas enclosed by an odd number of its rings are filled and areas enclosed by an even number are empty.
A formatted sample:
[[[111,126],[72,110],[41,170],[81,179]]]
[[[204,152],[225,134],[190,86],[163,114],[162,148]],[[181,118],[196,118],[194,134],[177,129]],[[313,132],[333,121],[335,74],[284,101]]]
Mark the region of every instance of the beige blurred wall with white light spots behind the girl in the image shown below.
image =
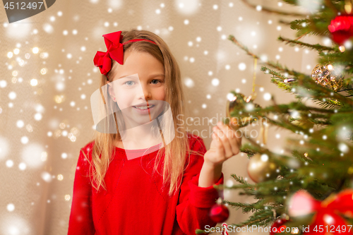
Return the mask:
[[[251,1],[280,11],[306,11],[279,1]],[[258,8],[260,10],[260,8]],[[90,95],[97,90],[97,50],[106,51],[102,35],[131,28],[160,35],[179,62],[187,101],[194,119],[225,116],[230,90],[250,95],[253,58],[227,38],[234,35],[251,52],[311,73],[316,54],[277,41],[295,38],[279,23],[284,16],[257,11],[237,0],[58,0],[46,11],[8,24],[0,16],[0,234],[67,234],[73,179],[79,150],[91,140],[94,123]],[[304,42],[319,42],[304,37]],[[256,70],[255,102],[264,94],[277,103],[293,99]],[[212,123],[191,123],[190,131],[210,146]],[[268,147],[280,152],[288,133],[270,128]],[[239,154],[223,164],[230,174],[248,178],[249,159]],[[251,181],[249,179],[249,181]],[[225,199],[251,203],[237,191]],[[227,224],[249,215],[230,209]],[[254,234],[254,233],[252,233]],[[256,234],[256,233],[255,233]]]

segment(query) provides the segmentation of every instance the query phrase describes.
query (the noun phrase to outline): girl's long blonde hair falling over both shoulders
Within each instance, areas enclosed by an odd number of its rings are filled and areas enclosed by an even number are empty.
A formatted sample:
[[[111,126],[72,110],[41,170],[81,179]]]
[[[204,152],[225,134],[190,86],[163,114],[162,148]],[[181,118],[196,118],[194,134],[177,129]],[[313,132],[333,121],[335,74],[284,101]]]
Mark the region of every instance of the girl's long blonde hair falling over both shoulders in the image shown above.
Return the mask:
[[[180,115],[182,118],[178,116],[179,114],[184,114],[184,93],[182,90],[179,66],[167,44],[154,33],[148,30],[132,29],[121,31],[121,35],[123,35],[122,42],[133,39],[147,39],[155,42],[156,44],[146,41],[131,42],[124,45],[124,52],[126,52],[127,49],[136,52],[145,52],[154,56],[164,65],[165,101],[169,103],[172,111],[174,130],[178,131],[175,131],[175,138],[169,145],[158,150],[152,174],[155,174],[161,162],[161,157],[164,154],[162,190],[169,185],[168,195],[170,196],[173,192],[177,193],[181,185],[186,159],[190,160],[189,156],[191,153],[201,155],[198,152],[190,150],[188,133],[186,133],[184,128],[184,115]],[[107,80],[112,82],[112,78],[114,78],[114,68],[117,67],[115,66],[116,64],[117,62],[112,59],[112,69],[107,73],[107,76],[102,75],[100,88],[106,85]],[[114,124],[117,126],[116,119]],[[119,130],[117,129],[116,131],[117,133],[95,132],[94,145],[92,147],[92,162],[88,162],[90,163],[90,172],[92,172],[90,176],[93,176],[91,180],[92,186],[94,186],[97,191],[101,186],[107,190],[104,183],[104,176],[107,173],[109,163],[112,162],[112,158],[115,155],[116,148],[114,147],[114,143],[116,140],[121,140]],[[88,159],[86,155],[85,157]],[[158,173],[160,174],[160,172]]]

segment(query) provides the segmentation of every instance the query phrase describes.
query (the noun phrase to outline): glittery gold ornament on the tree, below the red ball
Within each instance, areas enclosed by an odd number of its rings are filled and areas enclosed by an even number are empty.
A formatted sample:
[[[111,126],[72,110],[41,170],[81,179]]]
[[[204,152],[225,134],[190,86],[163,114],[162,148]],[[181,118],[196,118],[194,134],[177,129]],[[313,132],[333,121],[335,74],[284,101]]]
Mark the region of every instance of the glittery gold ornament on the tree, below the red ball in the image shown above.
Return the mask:
[[[339,90],[343,85],[343,76],[332,64],[318,64],[311,71],[311,78],[323,87]]]

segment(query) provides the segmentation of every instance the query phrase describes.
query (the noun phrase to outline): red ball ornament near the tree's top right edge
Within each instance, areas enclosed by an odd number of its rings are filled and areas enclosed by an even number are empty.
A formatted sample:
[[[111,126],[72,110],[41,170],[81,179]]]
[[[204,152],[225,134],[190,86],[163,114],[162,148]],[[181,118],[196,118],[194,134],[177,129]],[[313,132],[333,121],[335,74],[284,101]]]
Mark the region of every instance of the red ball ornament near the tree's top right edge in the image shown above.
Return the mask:
[[[337,16],[328,25],[333,41],[343,44],[349,37],[353,36],[353,15]]]

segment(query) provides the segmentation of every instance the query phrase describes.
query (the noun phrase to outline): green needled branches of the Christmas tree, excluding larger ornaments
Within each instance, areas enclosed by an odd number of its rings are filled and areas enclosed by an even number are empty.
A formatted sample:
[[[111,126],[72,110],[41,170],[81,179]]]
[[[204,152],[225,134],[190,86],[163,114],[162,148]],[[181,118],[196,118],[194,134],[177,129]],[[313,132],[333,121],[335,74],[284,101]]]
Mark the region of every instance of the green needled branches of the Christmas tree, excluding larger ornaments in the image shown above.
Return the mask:
[[[255,7],[247,0],[242,1],[252,8]],[[284,1],[287,4],[298,5],[297,0]],[[264,7],[263,9],[268,13],[276,13],[277,11]],[[287,16],[282,12],[278,13]],[[333,47],[325,47],[321,44],[309,44],[299,40],[301,37],[309,35],[330,37],[328,25],[338,13],[345,13],[345,1],[324,0],[323,8],[318,8],[316,12],[308,16],[301,15],[299,19],[290,22],[281,20],[281,23],[290,25],[292,30],[297,31],[298,38],[294,40],[280,36],[278,40],[290,46],[316,50],[318,64],[330,63],[335,66],[335,69],[342,66],[343,85],[340,90],[335,92],[333,88],[318,84],[310,75],[288,68],[278,61],[260,61],[259,63],[263,64],[261,71],[271,75],[271,82],[278,88],[294,94],[297,101],[289,104],[277,104],[275,96],[273,96],[271,98],[273,104],[270,106],[258,107],[255,105],[253,109],[249,109],[247,102],[242,102],[242,98],[240,98],[237,108],[231,112],[232,117],[251,120],[244,123],[244,126],[265,119],[270,126],[285,128],[297,134],[296,138],[289,138],[285,145],[286,152],[291,152],[291,156],[272,152],[256,140],[245,137],[248,143],[241,146],[241,152],[246,152],[250,158],[256,152],[268,155],[269,159],[277,164],[276,173],[278,176],[275,180],[249,183],[243,177],[232,174],[238,183],[237,185],[219,186],[229,190],[239,190],[239,195],[251,196],[257,200],[254,203],[225,201],[237,210],[241,208],[244,213],[253,212],[246,222],[232,225],[244,227],[253,224],[258,226],[272,224],[277,219],[277,215],[287,213],[287,199],[300,189],[308,191],[317,200],[323,200],[330,193],[351,187],[348,181],[352,179],[353,174],[353,159],[350,157],[353,152],[353,133],[350,130],[353,123],[352,49],[346,48],[344,50],[335,42],[333,42]],[[258,55],[238,42],[233,35],[229,35],[229,40],[237,44],[246,54],[260,59]],[[237,95],[236,92],[233,94]],[[308,100],[317,105],[309,107],[305,104]],[[253,100],[249,103],[253,103]],[[342,131],[341,129],[344,127],[349,130]],[[303,224],[309,221],[311,219]],[[297,221],[294,219],[291,223],[295,224]]]

